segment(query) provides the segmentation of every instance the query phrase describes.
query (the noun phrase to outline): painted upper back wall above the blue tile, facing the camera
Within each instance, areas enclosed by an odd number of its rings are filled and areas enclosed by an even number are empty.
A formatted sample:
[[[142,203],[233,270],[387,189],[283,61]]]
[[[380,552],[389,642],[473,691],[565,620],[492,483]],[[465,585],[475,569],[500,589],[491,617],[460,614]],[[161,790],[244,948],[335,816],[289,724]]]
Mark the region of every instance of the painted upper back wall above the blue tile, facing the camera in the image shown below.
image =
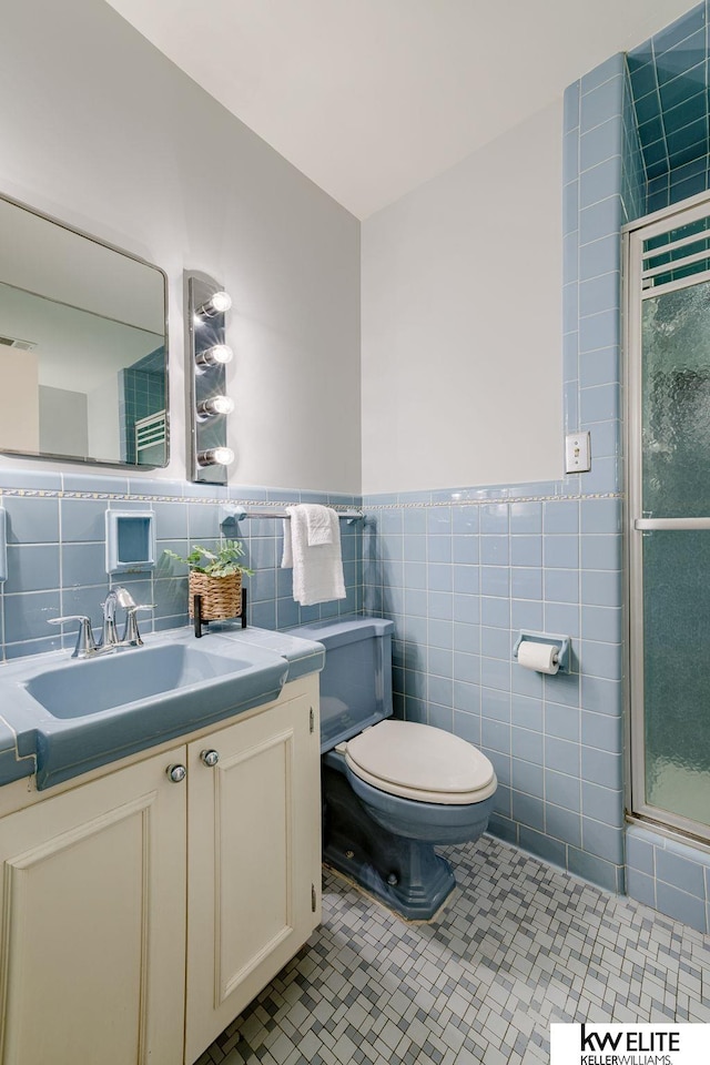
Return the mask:
[[[561,476],[561,138],[559,101],[363,223],[365,493]]]

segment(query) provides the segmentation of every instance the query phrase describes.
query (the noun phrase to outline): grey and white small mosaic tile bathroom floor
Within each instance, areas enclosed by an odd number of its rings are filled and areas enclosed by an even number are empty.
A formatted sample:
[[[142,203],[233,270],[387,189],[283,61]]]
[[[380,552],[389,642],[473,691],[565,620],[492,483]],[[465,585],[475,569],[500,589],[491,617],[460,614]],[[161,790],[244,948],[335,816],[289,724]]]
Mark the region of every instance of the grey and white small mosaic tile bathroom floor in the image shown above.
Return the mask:
[[[710,1022],[710,937],[484,838],[406,924],[326,874],[323,924],[197,1065],[519,1065],[551,1021]]]

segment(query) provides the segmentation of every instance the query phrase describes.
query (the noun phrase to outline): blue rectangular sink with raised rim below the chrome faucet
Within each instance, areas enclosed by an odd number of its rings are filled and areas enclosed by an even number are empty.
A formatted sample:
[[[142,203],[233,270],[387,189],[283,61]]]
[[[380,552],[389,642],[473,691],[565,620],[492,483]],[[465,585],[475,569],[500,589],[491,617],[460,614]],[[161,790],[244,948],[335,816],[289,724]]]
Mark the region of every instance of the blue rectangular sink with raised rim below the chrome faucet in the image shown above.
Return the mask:
[[[52,652],[9,663],[0,716],[16,759],[34,759],[43,789],[272,702],[287,674],[286,658],[266,647],[164,635],[89,659]]]

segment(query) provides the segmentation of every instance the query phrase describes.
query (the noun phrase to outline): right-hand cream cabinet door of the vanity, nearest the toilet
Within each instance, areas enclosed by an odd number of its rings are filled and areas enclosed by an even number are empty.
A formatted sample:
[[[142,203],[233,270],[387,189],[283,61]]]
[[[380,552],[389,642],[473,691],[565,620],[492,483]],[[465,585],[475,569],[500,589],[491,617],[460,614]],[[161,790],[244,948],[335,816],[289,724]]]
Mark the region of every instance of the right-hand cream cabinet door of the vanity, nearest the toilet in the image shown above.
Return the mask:
[[[307,691],[189,748],[187,1065],[321,920],[317,677]]]

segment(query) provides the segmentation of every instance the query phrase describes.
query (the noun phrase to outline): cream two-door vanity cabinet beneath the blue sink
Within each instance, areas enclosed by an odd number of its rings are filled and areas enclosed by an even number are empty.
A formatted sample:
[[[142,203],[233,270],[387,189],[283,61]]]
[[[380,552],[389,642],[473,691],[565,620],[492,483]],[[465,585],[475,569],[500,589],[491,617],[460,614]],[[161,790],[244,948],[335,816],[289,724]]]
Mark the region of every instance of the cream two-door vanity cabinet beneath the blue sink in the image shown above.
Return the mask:
[[[0,816],[0,1063],[192,1065],[320,921],[317,677],[57,791]]]

